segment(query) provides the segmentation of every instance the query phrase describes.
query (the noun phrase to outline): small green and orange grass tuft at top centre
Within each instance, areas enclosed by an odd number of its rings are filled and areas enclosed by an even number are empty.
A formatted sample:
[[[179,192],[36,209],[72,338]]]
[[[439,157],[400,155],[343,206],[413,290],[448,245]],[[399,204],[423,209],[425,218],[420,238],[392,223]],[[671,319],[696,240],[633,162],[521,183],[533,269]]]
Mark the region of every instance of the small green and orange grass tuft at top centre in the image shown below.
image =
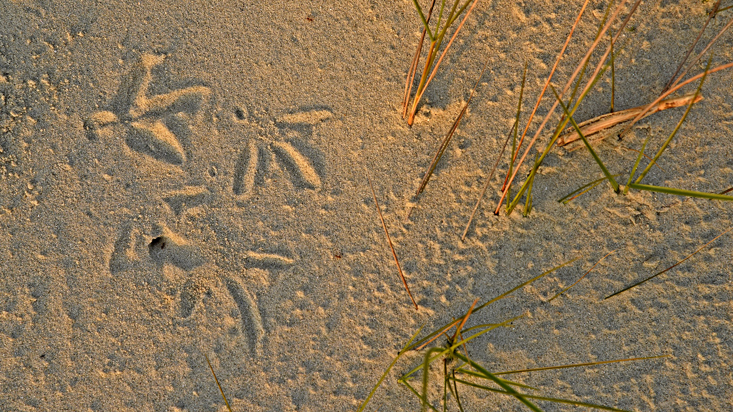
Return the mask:
[[[424,18],[424,15],[422,14],[421,10],[419,9],[419,5],[417,4],[417,0],[413,0],[413,3],[415,4],[416,8],[419,10],[420,18],[423,20],[423,23],[425,27],[427,28],[427,21]],[[432,32],[428,28],[428,34],[430,35],[430,38],[432,40],[431,47],[430,47],[430,53],[428,53],[427,61],[425,62],[425,68],[423,70],[423,74],[420,78],[419,86],[415,92],[415,98],[413,99],[413,106],[410,110],[410,116],[408,116],[408,124],[411,126],[413,124],[413,121],[415,120],[415,113],[417,112],[417,107],[422,100],[422,95],[425,93],[425,89],[427,89],[427,86],[432,81],[432,78],[435,77],[435,73],[438,72],[438,68],[441,67],[441,63],[443,62],[443,59],[446,56],[446,53],[448,53],[449,48],[453,44],[455,38],[457,37],[458,33],[460,33],[461,29],[463,29],[463,25],[465,24],[465,21],[468,20],[468,16],[471,15],[471,12],[474,11],[474,7],[476,7],[476,4],[478,3],[478,0],[467,0],[460,9],[456,10],[457,5],[459,4],[459,0],[456,0],[453,4],[453,8],[451,12],[449,13],[448,17],[446,18],[446,23],[443,26],[443,29],[438,33],[438,36],[433,36]],[[471,7],[468,7],[470,4]],[[465,10],[465,8],[468,7],[468,10]],[[441,15],[442,15],[442,9],[441,6]],[[443,49],[443,53],[441,53],[440,58],[438,58],[438,61],[435,61],[435,56],[438,53],[438,49],[440,48],[441,43],[443,42],[443,37],[446,34],[446,31],[452,24],[455,22],[455,20],[460,17],[461,14],[465,11],[465,14],[463,15],[463,19],[458,23],[458,26],[456,27],[452,37],[448,41],[448,44]],[[438,20],[438,24],[440,24],[440,20]],[[440,29],[440,26],[438,26],[437,29]],[[435,47],[437,45],[437,47]],[[432,66],[433,61],[435,61],[435,65]],[[425,76],[427,75],[428,70],[430,70],[430,67],[432,66],[432,71],[430,71],[430,76],[426,79]]]

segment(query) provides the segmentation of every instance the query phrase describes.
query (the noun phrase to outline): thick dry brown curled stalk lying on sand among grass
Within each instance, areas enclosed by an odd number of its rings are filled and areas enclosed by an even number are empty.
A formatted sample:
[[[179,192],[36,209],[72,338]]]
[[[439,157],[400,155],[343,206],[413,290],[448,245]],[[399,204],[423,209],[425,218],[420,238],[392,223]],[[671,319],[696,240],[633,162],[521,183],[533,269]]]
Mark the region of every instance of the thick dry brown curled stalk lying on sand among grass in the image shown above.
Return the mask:
[[[664,111],[670,108],[679,108],[680,106],[689,105],[691,100],[694,100],[694,102],[699,102],[703,99],[701,95],[694,97],[694,99],[693,97],[694,93],[690,93],[685,94],[685,96],[662,100],[661,102],[658,102],[657,104],[652,106],[652,108],[649,108],[649,110],[644,113],[644,118],[647,116],[651,116],[658,111]],[[585,135],[587,138],[589,135],[603,132],[604,130],[609,130],[612,127],[616,126],[616,124],[620,124],[624,121],[629,121],[633,119],[634,117],[636,117],[636,115],[638,115],[638,113],[644,111],[645,108],[647,108],[647,105],[625,109],[614,113],[602,114],[600,116],[594,117],[593,119],[581,121],[580,123],[578,123],[578,126],[581,127],[583,135]],[[577,141],[578,139],[580,139],[580,136],[578,136],[578,133],[575,132],[575,127],[570,127],[563,130],[562,134],[557,139],[556,144],[557,146],[564,146],[568,143]]]

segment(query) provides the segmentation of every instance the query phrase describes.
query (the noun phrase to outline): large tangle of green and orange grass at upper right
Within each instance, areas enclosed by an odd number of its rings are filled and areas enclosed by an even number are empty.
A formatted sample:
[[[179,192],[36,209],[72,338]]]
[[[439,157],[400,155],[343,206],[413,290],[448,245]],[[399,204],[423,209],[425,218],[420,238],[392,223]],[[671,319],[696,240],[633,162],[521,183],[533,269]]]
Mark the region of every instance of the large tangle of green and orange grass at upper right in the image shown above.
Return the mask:
[[[498,214],[501,205],[504,203],[505,199],[507,200],[507,214],[511,214],[512,211],[515,209],[515,207],[518,205],[518,203],[521,201],[522,198],[525,199],[525,204],[523,208],[523,214],[526,216],[531,211],[532,206],[532,194],[531,194],[531,187],[534,184],[535,176],[537,175],[537,171],[539,170],[539,167],[542,165],[542,162],[544,162],[545,157],[549,154],[550,150],[555,146],[556,144],[565,144],[569,141],[574,140],[574,138],[579,138],[583,142],[583,146],[585,146],[586,149],[588,149],[591,156],[594,158],[595,162],[599,165],[599,168],[603,172],[603,177],[600,180],[593,181],[590,184],[587,184],[584,187],[581,187],[576,192],[573,192],[571,195],[562,198],[561,201],[564,203],[567,203],[568,201],[572,200],[573,196],[581,195],[587,190],[592,189],[592,187],[595,187],[597,184],[600,184],[603,181],[608,181],[611,185],[612,189],[616,193],[623,193],[626,194],[628,190],[635,189],[635,190],[647,190],[647,191],[655,191],[655,192],[663,192],[663,193],[669,193],[674,195],[682,195],[682,196],[692,196],[697,198],[707,198],[707,199],[715,199],[715,200],[724,200],[724,201],[730,201],[733,200],[733,196],[726,196],[722,193],[707,193],[707,192],[697,192],[692,190],[684,190],[684,189],[675,189],[671,187],[659,187],[659,186],[652,186],[648,184],[641,184],[641,180],[644,179],[644,177],[649,173],[649,170],[654,166],[657,165],[657,161],[659,160],[660,156],[664,153],[664,151],[667,149],[669,143],[674,139],[674,136],[679,131],[679,127],[681,127],[682,123],[685,121],[685,119],[688,116],[688,113],[690,113],[690,110],[693,108],[693,105],[696,102],[699,102],[701,100],[701,88],[704,83],[704,80],[707,78],[707,75],[710,75],[714,72],[718,72],[721,70],[726,70],[730,67],[733,67],[733,62],[721,64],[718,67],[710,68],[710,62],[712,59],[709,60],[709,64],[706,67],[706,69],[699,73],[698,75],[694,75],[684,81],[683,78],[685,78],[685,75],[687,74],[688,70],[690,70],[690,67],[692,67],[693,64],[696,63],[696,61],[699,61],[700,57],[704,55],[704,53],[709,50],[712,45],[721,37],[721,35],[729,29],[733,25],[733,18],[729,23],[726,23],[726,26],[721,29],[721,31],[718,32],[718,34],[715,35],[715,37],[710,41],[710,43],[704,48],[704,50],[699,53],[698,56],[696,56],[695,59],[692,59],[690,61],[690,64],[688,64],[687,69],[682,71],[682,74],[679,76],[677,73],[682,70],[681,68],[684,67],[685,62],[687,61],[692,48],[694,48],[694,45],[696,45],[698,39],[693,42],[693,45],[690,46],[690,50],[688,50],[687,56],[685,56],[685,59],[683,59],[682,63],[680,64],[680,67],[678,68],[677,72],[675,72],[675,75],[668,83],[668,86],[666,89],[659,95],[657,99],[655,99],[653,102],[649,103],[648,105],[640,106],[638,108],[633,109],[627,109],[625,111],[618,112],[617,114],[614,113],[616,110],[614,105],[615,100],[615,72],[616,72],[616,59],[618,59],[618,56],[620,53],[622,53],[622,50],[624,50],[628,43],[630,42],[630,38],[625,39],[622,42],[619,42],[619,35],[624,31],[625,26],[629,22],[630,18],[634,15],[634,12],[636,12],[636,9],[638,5],[640,4],[640,1],[637,0],[633,4],[630,4],[630,10],[627,13],[626,17],[622,20],[622,22],[619,24],[619,26],[615,29],[616,34],[611,33],[611,26],[612,23],[616,20],[616,18],[619,18],[620,12],[622,10],[625,10],[626,1],[622,0],[615,8],[613,6],[613,2],[609,2],[608,5],[605,8],[605,13],[603,15],[603,18],[601,18],[600,23],[598,25],[598,29],[596,32],[596,36],[594,39],[594,42],[592,45],[588,48],[586,51],[586,54],[583,56],[581,61],[578,62],[577,67],[575,68],[575,71],[570,75],[570,78],[567,79],[567,81],[564,83],[564,86],[561,89],[555,89],[555,86],[552,85],[551,80],[553,78],[553,74],[556,70],[556,67],[561,60],[564,51],[567,48],[567,45],[569,44],[573,31],[575,30],[575,26],[577,26],[578,22],[581,20],[581,17],[583,16],[583,12],[586,8],[587,2],[583,4],[583,7],[581,7],[581,10],[578,12],[577,17],[575,18],[575,23],[573,24],[572,28],[570,29],[570,34],[568,34],[567,40],[565,41],[564,45],[562,45],[561,50],[556,58],[556,63],[553,65],[552,70],[550,70],[550,75],[548,76],[548,79],[545,81],[545,85],[542,88],[542,91],[539,93],[539,97],[537,99],[537,103],[534,106],[533,110],[531,111],[531,114],[526,122],[526,127],[524,127],[524,132],[520,135],[520,137],[517,140],[517,131],[518,131],[518,113],[517,113],[517,121],[515,121],[515,125],[512,127],[512,132],[509,132],[509,135],[512,135],[512,133],[515,135],[514,139],[512,140],[512,151],[509,157],[509,162],[507,166],[507,174],[504,179],[504,184],[501,187],[501,197],[499,198],[499,201],[496,205],[496,209],[494,210],[494,214]],[[718,12],[721,12],[722,10],[719,9],[720,1],[715,4],[713,7],[712,12],[710,15],[714,15]],[[613,10],[613,11],[612,11]],[[710,18],[708,19],[710,20]],[[707,26],[707,23],[706,23]],[[608,37],[608,46],[605,49],[605,52],[603,53],[603,56],[600,57],[594,71],[592,74],[589,75],[589,77],[586,80],[585,86],[582,88],[581,82],[583,81],[583,78],[586,75],[586,70],[588,69],[589,62],[591,59],[591,56],[594,53],[594,49],[597,48],[598,45],[600,45],[600,42],[603,38]],[[597,83],[600,82],[600,80],[603,78],[603,75],[610,70],[611,72],[611,113],[608,115],[598,116],[597,119],[592,119],[591,121],[583,122],[581,127],[581,124],[578,124],[578,122],[574,119],[574,113],[578,110],[579,106],[583,102],[583,100],[586,99],[588,94],[594,89],[594,87],[597,85]],[[682,97],[674,97],[674,98],[668,98],[670,94],[674,93],[674,91],[677,91],[681,89],[682,87],[696,81],[700,80],[699,87],[696,89],[694,94],[688,94]],[[574,86],[573,86],[574,83]],[[572,86],[572,91],[571,90]],[[532,118],[534,117],[534,114],[537,111],[537,108],[539,108],[540,102],[542,102],[542,97],[545,94],[545,91],[547,89],[553,90],[553,94],[555,94],[555,102],[553,103],[552,107],[548,111],[547,115],[545,116],[545,119],[542,120],[541,124],[537,128],[537,131],[534,134],[534,137],[531,138],[526,145],[523,143],[526,137],[526,134],[529,130]],[[568,100],[567,104],[564,102],[564,95],[567,94],[570,91],[570,99]],[[577,100],[575,99],[576,95],[578,95]],[[521,98],[520,98],[520,104],[521,104]],[[593,148],[592,143],[586,138],[583,133],[585,132],[601,132],[603,130],[608,130],[611,127],[616,126],[616,124],[620,124],[622,122],[627,122],[627,126],[625,127],[625,130],[623,130],[619,134],[620,137],[630,129],[630,127],[633,127],[633,124],[636,123],[639,119],[644,118],[645,116],[649,116],[651,113],[655,113],[656,111],[666,110],[667,108],[674,108],[679,107],[681,105],[686,105],[686,111],[682,115],[682,118],[677,123],[677,127],[674,128],[674,130],[668,135],[668,138],[666,141],[664,141],[658,149],[657,154],[655,154],[655,157],[649,157],[647,154],[644,154],[644,150],[647,149],[649,140],[644,141],[643,146],[641,147],[641,150],[637,149],[628,149],[633,151],[638,151],[638,157],[636,159],[636,162],[634,163],[633,167],[631,168],[630,178],[627,181],[627,184],[625,186],[621,186],[617,181],[616,178],[620,176],[620,173],[612,173],[611,168],[608,167],[607,162],[603,162],[603,160],[600,159],[599,154],[597,151]],[[555,109],[560,106],[563,113],[561,113],[561,118],[557,126],[555,127],[555,130],[550,137],[550,140],[548,141],[547,145],[545,146],[545,149],[541,151],[537,151],[537,154],[535,155],[535,161],[534,164],[531,165],[530,171],[519,189],[515,192],[512,190],[512,183],[515,181],[517,175],[520,173],[520,170],[522,169],[523,162],[526,160],[526,157],[528,157],[528,154],[530,154],[531,149],[533,148],[534,144],[538,141],[539,135],[541,134],[542,130],[544,129],[545,125],[548,124],[548,121],[550,119],[550,116],[553,115],[553,112]],[[574,130],[572,132],[573,136],[570,136],[565,130],[565,127],[567,127],[567,124],[570,123],[572,125],[571,129]],[[562,138],[559,139],[559,136],[561,135],[561,132],[565,132],[562,134]],[[566,137],[568,136],[568,137]],[[509,136],[507,136],[507,142],[508,142]],[[489,179],[493,177],[494,172],[496,171],[496,167],[498,166],[499,159],[504,154],[504,150],[506,149],[507,142],[504,143],[504,147],[501,150],[501,153],[499,154],[499,157],[497,158],[495,165],[489,174]],[[444,150],[444,148],[443,148]],[[519,156],[520,150],[523,150],[523,154]],[[517,160],[518,157],[518,160]],[[641,172],[641,175],[636,177],[634,176],[636,173],[636,170],[638,166],[641,164],[642,157],[649,158],[649,162],[647,165],[644,165],[644,170]],[[636,180],[634,178],[636,177]],[[478,211],[479,204],[481,203],[482,199],[485,196],[485,192],[489,186],[489,181],[487,181],[482,188],[479,198],[476,201],[476,204],[474,205],[474,209],[471,211],[471,215],[468,218],[468,223],[465,226],[465,229],[463,231],[463,235],[461,236],[461,239],[464,240],[465,236],[468,233],[469,228],[471,227],[471,222],[474,220],[474,217],[476,215],[476,212]],[[421,187],[424,188],[424,185]]]

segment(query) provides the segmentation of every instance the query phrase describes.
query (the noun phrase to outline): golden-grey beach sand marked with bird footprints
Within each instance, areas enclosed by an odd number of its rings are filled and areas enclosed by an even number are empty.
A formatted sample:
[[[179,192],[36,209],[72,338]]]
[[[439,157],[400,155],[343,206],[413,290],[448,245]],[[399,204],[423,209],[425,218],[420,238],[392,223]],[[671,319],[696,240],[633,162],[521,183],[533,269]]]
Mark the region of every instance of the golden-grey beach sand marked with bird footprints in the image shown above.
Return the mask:
[[[581,1],[482,1],[412,127],[400,116],[421,31],[412,1],[185,3],[0,1],[0,412],[226,411],[205,355],[233,411],[356,411],[421,325],[572,258],[471,318],[527,314],[472,342],[471,357],[498,372],[669,355],[512,376],[630,411],[733,410],[732,233],[603,300],[729,228],[731,203],[603,184],[563,205],[601,174],[587,151],[553,149],[529,217],[493,214],[505,157],[460,240],[512,127],[525,61],[523,121]],[[616,60],[616,108],[658,96],[713,3],[641,4]],[[589,4],[556,83],[604,10]],[[713,53],[733,61],[731,32]],[[413,199],[486,56],[463,123]],[[597,91],[579,120],[608,112],[608,79]],[[701,93],[647,183],[733,186],[733,72],[710,75]],[[636,152],[623,147],[652,135],[656,150],[683,111],[597,151],[625,183]],[[400,359],[367,411],[419,410],[396,381],[419,362]],[[436,407],[441,391],[431,386]],[[462,394],[466,411],[527,410]]]

